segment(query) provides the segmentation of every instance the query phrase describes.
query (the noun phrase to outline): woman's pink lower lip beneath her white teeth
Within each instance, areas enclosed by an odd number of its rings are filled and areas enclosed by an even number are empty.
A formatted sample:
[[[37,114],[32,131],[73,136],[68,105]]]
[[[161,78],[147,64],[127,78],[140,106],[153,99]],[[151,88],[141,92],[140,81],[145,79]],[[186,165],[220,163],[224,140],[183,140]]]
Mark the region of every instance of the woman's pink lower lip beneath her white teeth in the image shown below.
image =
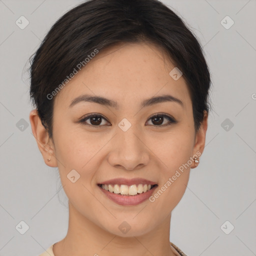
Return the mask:
[[[103,189],[101,185],[98,185],[98,187],[109,199],[120,205],[137,205],[148,199],[153,193],[154,189],[157,187],[157,185],[146,192],[137,193],[136,195],[115,194],[114,192],[109,192]]]

